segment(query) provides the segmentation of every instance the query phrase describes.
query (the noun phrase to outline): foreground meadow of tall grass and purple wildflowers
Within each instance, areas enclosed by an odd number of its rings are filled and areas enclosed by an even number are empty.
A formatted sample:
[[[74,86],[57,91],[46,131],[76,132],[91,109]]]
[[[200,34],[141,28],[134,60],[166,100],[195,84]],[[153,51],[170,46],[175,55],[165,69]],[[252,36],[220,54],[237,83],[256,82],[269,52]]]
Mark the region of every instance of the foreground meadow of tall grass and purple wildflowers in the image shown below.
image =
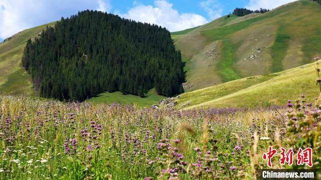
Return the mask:
[[[319,73],[318,67],[316,72]],[[317,77],[317,87],[321,87]],[[271,146],[311,148],[321,173],[321,97],[268,109],[154,109],[0,96],[0,179],[256,179]]]

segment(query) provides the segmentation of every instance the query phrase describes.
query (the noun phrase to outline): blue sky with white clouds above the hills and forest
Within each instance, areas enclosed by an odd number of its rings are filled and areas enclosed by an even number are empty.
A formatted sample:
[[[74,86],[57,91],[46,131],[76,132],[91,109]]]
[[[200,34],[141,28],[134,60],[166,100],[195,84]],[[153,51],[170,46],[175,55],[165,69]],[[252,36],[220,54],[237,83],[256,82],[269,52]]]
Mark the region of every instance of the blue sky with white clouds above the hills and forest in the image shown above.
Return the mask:
[[[273,9],[294,0],[0,0],[0,42],[28,28],[97,10],[175,32],[211,22],[235,8]]]

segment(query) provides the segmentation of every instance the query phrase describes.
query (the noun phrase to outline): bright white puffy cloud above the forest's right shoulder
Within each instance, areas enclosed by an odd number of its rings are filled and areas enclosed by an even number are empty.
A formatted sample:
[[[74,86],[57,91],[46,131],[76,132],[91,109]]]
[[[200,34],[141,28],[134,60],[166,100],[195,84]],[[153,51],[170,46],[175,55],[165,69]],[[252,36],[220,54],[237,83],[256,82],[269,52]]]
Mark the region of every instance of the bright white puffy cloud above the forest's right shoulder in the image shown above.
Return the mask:
[[[201,15],[192,13],[180,14],[173,8],[173,4],[165,0],[154,1],[154,6],[141,5],[137,2],[125,14],[119,16],[139,22],[156,24],[175,32],[208,23]]]

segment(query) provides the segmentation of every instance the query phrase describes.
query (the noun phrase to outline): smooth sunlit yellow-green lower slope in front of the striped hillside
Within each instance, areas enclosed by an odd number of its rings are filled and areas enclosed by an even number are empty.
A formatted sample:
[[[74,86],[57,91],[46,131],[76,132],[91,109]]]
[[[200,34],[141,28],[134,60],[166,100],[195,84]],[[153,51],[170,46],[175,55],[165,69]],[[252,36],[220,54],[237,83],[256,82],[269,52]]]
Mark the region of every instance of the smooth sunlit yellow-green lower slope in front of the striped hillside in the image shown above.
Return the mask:
[[[315,63],[270,75],[243,78],[224,84],[182,94],[177,108],[197,107],[268,107],[284,105],[302,93],[313,101],[319,90],[315,87]]]

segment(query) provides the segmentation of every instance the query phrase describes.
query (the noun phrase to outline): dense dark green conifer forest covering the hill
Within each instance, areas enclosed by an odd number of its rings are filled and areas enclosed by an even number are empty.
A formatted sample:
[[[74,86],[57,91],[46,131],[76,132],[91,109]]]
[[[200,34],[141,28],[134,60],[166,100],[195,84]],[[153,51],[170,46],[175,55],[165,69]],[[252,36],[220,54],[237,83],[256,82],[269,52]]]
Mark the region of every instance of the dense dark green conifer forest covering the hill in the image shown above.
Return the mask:
[[[47,27],[27,42],[22,64],[45,98],[82,101],[103,91],[143,97],[151,88],[169,97],[184,91],[184,63],[167,29],[97,11]]]

